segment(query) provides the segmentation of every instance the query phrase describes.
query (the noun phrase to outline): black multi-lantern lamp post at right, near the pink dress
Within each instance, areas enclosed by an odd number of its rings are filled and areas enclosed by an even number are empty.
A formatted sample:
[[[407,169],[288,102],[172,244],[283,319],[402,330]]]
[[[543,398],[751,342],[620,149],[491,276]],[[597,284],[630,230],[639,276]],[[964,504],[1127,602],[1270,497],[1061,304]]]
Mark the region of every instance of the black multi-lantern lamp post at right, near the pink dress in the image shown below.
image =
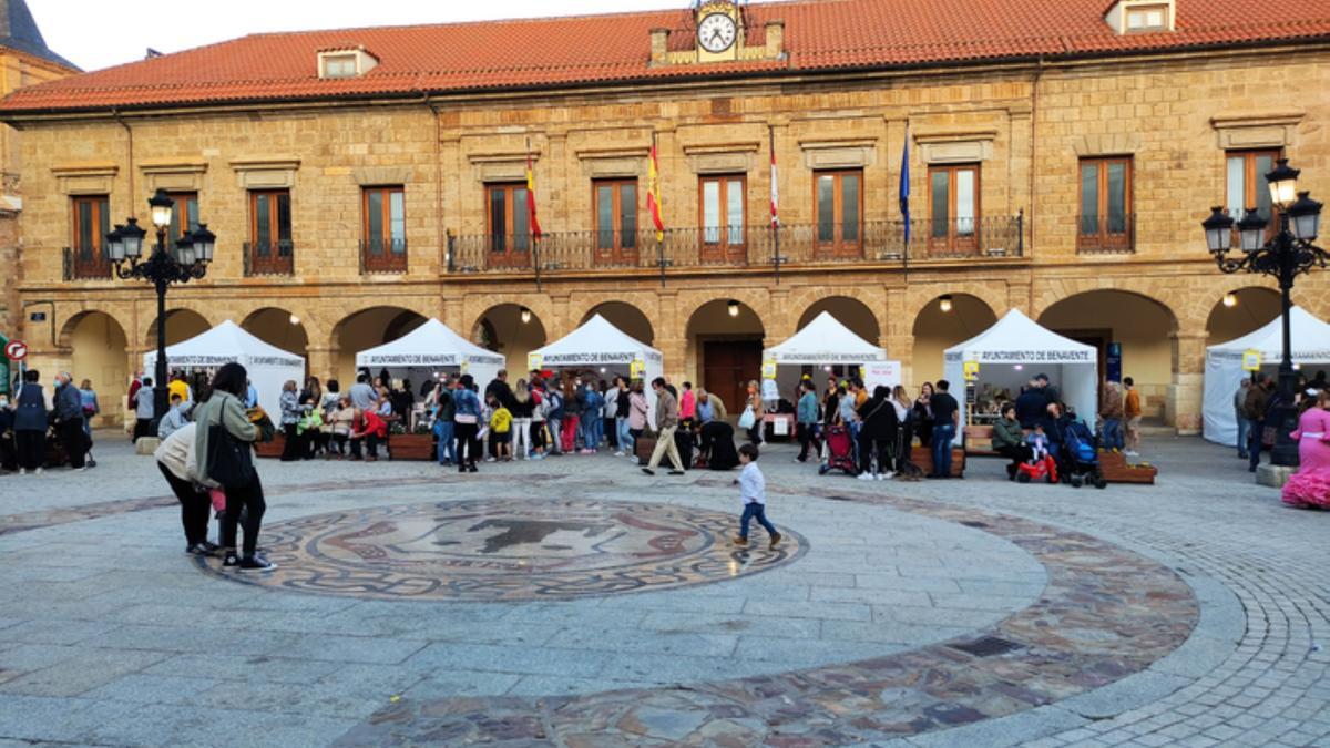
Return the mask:
[[[1233,217],[1224,208],[1213,208],[1205,229],[1205,244],[1225,273],[1261,273],[1279,282],[1283,299],[1283,358],[1279,361],[1279,403],[1277,406],[1277,435],[1270,462],[1281,466],[1298,465],[1298,445],[1289,438],[1297,429],[1298,411],[1293,405],[1298,373],[1293,369],[1293,339],[1290,310],[1293,309],[1293,282],[1313,268],[1330,265],[1330,253],[1311,244],[1321,224],[1321,204],[1310,193],[1298,192],[1298,169],[1279,158],[1274,170],[1265,176],[1270,184],[1270,202],[1279,208],[1279,233],[1265,241],[1269,221],[1256,208],[1246,209],[1237,221],[1241,254],[1229,257],[1233,249]]]

